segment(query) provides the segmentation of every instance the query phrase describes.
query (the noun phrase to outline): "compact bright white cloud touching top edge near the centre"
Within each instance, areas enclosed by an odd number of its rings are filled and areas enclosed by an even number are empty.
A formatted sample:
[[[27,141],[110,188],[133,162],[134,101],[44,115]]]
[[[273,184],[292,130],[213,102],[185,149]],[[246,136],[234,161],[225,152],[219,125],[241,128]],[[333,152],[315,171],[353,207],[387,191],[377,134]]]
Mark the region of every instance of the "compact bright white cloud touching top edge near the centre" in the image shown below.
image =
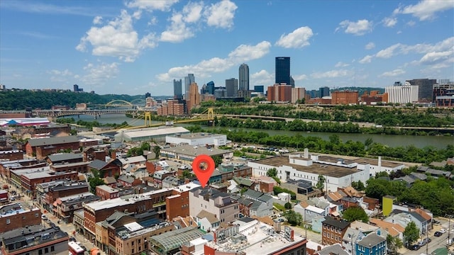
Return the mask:
[[[217,4],[211,4],[204,11],[206,23],[208,26],[214,26],[216,28],[231,28],[237,8],[238,6],[230,0],[223,0]]]

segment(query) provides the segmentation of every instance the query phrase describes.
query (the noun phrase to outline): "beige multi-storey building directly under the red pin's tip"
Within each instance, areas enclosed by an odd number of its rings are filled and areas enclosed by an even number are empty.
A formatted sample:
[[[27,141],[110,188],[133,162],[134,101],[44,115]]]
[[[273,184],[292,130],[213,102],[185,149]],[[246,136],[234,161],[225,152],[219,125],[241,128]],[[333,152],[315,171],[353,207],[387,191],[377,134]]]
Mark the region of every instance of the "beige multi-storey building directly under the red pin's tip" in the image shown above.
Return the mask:
[[[199,215],[201,210],[216,215],[221,223],[231,222],[239,218],[238,202],[233,201],[229,194],[213,188],[194,188],[189,191],[189,214]]]

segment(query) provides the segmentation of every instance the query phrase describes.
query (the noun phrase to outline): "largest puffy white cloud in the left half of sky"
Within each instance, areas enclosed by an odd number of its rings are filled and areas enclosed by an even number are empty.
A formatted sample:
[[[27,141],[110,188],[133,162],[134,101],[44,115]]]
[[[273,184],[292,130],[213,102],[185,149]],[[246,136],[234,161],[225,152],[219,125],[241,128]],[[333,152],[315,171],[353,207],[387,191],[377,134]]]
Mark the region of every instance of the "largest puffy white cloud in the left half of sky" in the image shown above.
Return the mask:
[[[92,45],[93,55],[118,57],[125,62],[133,62],[142,50],[157,45],[153,33],[138,38],[132,17],[125,10],[106,26],[90,28],[76,49],[83,52],[87,50],[88,44]]]

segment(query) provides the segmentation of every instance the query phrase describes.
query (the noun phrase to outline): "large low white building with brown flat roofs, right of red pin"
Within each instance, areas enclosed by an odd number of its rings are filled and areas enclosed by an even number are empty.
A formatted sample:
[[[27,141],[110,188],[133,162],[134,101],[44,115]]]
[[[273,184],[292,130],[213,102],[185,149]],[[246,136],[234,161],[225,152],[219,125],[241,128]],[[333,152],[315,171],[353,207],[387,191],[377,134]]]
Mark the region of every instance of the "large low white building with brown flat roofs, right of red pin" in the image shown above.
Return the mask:
[[[347,159],[338,159],[321,155],[293,153],[288,157],[272,157],[248,162],[253,169],[253,176],[266,176],[269,169],[277,169],[277,177],[282,181],[305,180],[316,186],[319,176],[326,179],[324,188],[327,192],[351,186],[352,181],[365,183],[370,178],[369,164],[358,169],[358,164]]]

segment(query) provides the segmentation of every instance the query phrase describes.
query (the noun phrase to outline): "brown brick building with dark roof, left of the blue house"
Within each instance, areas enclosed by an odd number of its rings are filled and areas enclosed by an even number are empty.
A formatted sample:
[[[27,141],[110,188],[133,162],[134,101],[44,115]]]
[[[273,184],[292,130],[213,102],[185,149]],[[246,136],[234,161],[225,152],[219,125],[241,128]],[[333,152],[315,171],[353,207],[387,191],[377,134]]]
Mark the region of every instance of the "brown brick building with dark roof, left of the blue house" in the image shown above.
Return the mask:
[[[321,224],[321,244],[323,245],[342,244],[343,236],[350,227],[350,222],[331,216],[325,216]]]

